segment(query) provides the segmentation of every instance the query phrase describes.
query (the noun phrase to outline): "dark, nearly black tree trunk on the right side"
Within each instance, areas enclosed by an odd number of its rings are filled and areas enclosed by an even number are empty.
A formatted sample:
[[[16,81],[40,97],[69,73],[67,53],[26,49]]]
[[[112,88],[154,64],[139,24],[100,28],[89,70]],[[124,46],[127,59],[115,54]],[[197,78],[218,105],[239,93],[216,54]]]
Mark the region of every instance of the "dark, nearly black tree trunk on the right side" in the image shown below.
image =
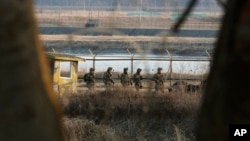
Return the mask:
[[[229,140],[250,124],[250,1],[228,0],[198,123],[198,141]]]

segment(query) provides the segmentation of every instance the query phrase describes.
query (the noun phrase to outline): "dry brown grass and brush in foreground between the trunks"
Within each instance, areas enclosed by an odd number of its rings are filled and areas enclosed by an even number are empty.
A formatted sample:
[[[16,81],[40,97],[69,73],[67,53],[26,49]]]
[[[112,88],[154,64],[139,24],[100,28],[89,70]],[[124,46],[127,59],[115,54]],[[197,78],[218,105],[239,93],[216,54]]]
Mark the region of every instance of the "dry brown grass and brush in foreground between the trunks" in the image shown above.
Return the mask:
[[[201,94],[85,92],[60,97],[68,141],[192,141]]]

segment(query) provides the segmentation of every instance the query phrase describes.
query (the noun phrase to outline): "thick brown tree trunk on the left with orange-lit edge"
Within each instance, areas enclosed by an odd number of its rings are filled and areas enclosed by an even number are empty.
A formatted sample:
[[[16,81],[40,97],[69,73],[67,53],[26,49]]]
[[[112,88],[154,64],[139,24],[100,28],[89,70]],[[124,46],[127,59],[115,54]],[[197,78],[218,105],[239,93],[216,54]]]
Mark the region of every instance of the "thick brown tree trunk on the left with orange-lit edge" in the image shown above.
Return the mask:
[[[62,140],[31,0],[0,1],[0,140]]]

